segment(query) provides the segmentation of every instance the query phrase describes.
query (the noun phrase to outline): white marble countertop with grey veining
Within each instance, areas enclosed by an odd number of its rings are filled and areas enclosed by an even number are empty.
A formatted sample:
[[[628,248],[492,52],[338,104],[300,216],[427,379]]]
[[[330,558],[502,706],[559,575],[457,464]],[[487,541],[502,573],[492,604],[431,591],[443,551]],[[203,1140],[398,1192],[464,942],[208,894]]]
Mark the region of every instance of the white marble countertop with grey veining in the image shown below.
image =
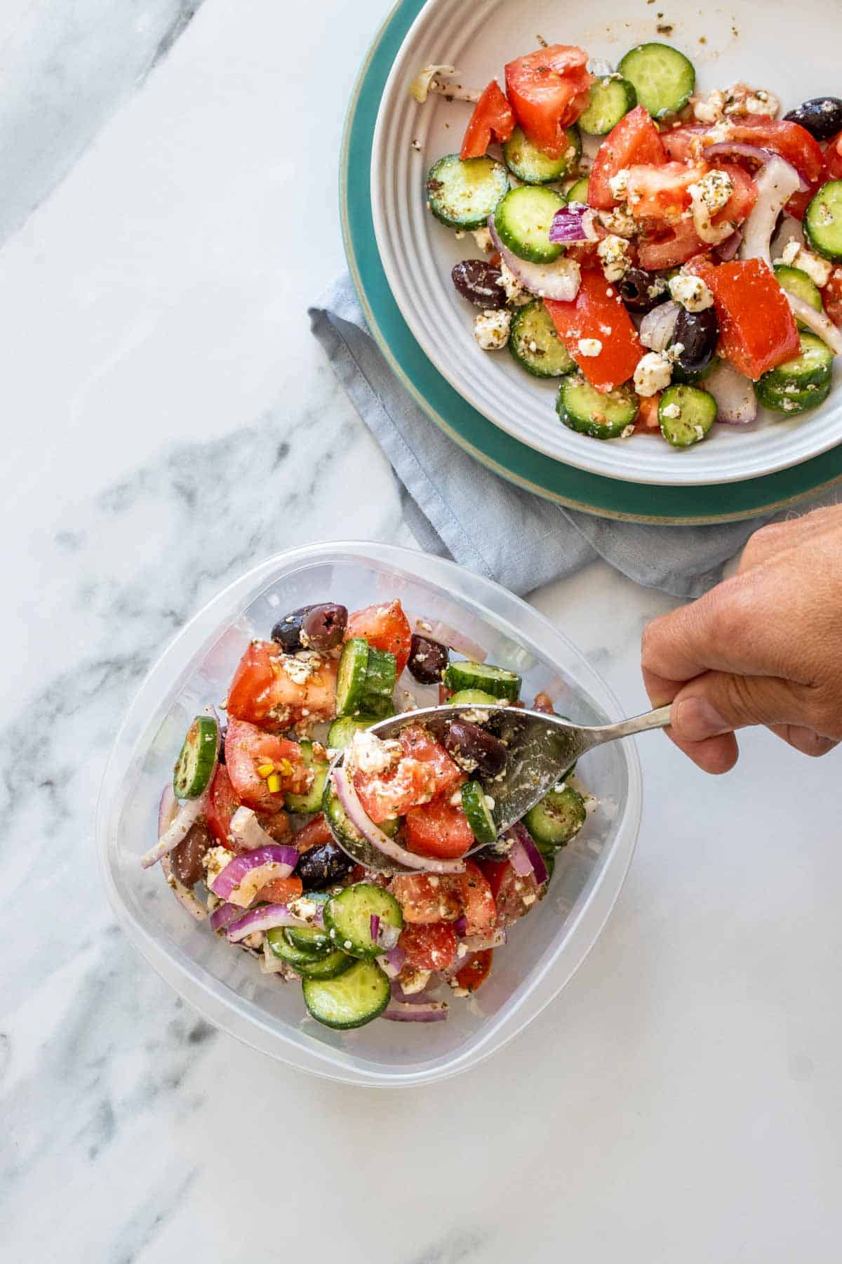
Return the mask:
[[[0,1255],[837,1260],[838,753],[754,733],[713,781],[641,739],[597,948],[524,1035],[423,1090],[270,1062],[115,925],[97,787],[173,631],[266,554],[413,538],[305,317],[342,267],[342,116],[384,0],[72,8],[0,11]],[[534,599],[641,709],[668,600],[601,565]]]

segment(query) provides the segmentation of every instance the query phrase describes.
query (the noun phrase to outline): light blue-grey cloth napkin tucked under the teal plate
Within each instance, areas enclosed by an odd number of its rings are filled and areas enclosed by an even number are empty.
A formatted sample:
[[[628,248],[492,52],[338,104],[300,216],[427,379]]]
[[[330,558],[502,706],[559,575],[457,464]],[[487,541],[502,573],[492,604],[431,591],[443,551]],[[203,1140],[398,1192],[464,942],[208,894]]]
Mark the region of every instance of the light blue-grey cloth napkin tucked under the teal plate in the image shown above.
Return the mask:
[[[473,460],[425,416],[371,337],[350,277],[341,277],[309,308],[309,317],[340,382],[391,463],[418,542],[515,593],[603,557],[646,588],[698,597],[718,583],[728,559],[768,521],[649,526],[544,501]]]

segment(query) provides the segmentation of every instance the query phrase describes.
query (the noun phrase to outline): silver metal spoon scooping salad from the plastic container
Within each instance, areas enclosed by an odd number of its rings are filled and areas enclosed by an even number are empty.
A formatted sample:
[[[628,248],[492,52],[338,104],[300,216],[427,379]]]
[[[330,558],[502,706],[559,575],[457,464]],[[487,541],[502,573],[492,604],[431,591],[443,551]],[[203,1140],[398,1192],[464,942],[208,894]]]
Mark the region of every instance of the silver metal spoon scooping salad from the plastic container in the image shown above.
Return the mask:
[[[446,736],[452,720],[462,718],[480,724],[486,732],[501,738],[507,747],[506,766],[499,779],[489,785],[494,798],[494,817],[497,836],[502,834],[516,820],[520,820],[539,799],[552,790],[567,770],[595,746],[614,742],[619,737],[631,737],[645,733],[650,728],[665,728],[669,724],[669,707],[634,715],[619,724],[597,727],[574,724],[559,715],[545,712],[520,710],[516,707],[485,707],[476,704],[461,707],[427,707],[423,710],[404,712],[389,719],[372,724],[369,729],[380,738],[396,737],[408,724],[422,724],[439,741]],[[342,751],[332,762],[331,772],[345,760]],[[328,774],[329,776],[329,774]],[[598,787],[597,787],[598,789]],[[333,838],[347,854],[365,865],[366,868],[381,873],[410,873],[409,866],[384,856],[364,838],[340,837],[333,823],[327,818]],[[483,844],[472,847],[468,856]]]

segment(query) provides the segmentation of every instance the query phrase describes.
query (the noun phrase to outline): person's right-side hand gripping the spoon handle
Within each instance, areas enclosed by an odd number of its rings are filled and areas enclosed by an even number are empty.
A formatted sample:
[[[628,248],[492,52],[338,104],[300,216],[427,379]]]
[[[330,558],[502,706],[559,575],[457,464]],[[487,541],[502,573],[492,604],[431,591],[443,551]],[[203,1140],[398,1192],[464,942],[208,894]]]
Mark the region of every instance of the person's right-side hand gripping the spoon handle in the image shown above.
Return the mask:
[[[706,772],[733,767],[750,724],[827,755],[842,739],[842,506],[756,531],[736,575],[649,624],[641,667]]]

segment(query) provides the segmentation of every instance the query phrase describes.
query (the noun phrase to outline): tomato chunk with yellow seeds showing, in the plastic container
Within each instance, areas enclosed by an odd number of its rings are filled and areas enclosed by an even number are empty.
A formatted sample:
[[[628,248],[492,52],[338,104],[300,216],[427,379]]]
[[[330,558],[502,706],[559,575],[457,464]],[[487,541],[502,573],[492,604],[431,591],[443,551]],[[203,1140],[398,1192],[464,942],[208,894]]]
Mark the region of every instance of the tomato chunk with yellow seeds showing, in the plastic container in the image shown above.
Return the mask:
[[[228,719],[225,766],[241,804],[255,811],[280,811],[284,795],[304,794],[313,780],[298,742],[265,733],[255,724]],[[270,774],[263,775],[266,769]],[[260,770],[260,771],[259,771]],[[271,780],[276,777],[276,782]],[[276,789],[270,786],[276,785]]]

